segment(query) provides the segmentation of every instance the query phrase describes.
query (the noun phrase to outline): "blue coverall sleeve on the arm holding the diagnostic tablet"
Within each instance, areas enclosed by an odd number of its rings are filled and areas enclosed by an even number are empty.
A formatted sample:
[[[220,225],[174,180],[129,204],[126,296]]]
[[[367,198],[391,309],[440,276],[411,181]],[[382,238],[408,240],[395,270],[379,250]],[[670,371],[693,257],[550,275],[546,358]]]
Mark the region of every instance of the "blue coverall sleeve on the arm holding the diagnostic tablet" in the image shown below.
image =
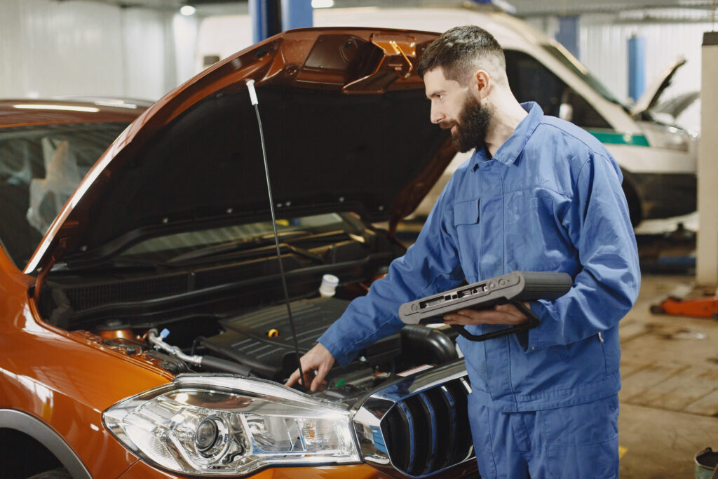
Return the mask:
[[[592,154],[579,170],[561,223],[577,248],[582,269],[567,294],[531,302],[541,325],[528,332],[528,353],[567,345],[618,325],[640,288],[638,251],[620,172]]]

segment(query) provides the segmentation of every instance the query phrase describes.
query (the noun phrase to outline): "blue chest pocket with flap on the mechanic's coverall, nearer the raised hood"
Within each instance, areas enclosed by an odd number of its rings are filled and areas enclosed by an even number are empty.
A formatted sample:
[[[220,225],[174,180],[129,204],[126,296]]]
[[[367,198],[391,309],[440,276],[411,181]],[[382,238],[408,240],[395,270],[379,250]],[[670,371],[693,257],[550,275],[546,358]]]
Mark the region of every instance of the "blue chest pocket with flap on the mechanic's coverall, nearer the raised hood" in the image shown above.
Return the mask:
[[[478,281],[481,255],[481,199],[454,204],[454,228],[459,238],[459,259],[467,280]]]

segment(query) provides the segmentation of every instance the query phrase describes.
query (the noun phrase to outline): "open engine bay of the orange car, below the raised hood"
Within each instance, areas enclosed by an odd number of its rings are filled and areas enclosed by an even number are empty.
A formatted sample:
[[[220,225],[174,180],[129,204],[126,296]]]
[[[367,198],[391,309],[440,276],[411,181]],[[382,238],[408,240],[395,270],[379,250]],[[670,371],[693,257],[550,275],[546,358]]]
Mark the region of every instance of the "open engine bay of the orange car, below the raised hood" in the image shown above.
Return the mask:
[[[322,236],[281,255],[299,355],[404,252],[376,231]],[[260,249],[173,268],[58,269],[45,282],[40,310],[52,325],[172,375],[220,372],[284,383],[298,365],[295,340],[276,254]],[[340,279],[331,297],[319,292],[325,274]],[[361,350],[347,368],[332,368],[317,394],[350,403],[401,371],[456,360],[455,338],[447,326],[407,325]]]

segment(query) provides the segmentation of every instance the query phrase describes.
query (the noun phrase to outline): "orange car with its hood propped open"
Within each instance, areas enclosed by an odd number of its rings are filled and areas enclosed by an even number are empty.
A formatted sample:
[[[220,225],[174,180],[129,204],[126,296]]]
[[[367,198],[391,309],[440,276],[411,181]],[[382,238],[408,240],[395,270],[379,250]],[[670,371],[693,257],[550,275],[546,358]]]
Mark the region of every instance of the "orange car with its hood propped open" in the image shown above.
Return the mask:
[[[446,330],[407,326],[317,394],[282,384],[454,154],[414,70],[436,36],[284,32],[146,111],[0,104],[4,478],[476,475]]]

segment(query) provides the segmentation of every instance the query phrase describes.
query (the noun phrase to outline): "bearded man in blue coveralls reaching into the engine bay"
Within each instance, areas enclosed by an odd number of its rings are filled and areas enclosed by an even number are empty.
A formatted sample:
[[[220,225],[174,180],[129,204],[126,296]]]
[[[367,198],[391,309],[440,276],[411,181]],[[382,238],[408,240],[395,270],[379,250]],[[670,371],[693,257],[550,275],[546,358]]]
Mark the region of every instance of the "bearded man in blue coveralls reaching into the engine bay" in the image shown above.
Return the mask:
[[[618,322],[640,271],[622,175],[600,141],[511,93],[498,42],[457,27],[419,62],[431,121],[460,152],[475,148],[444,188],[416,243],[355,299],[302,357],[312,391],[335,361],[397,332],[401,303],[510,271],[564,271],[574,285],[530,302],[535,329],[482,343],[457,338],[472,393],[483,478],[618,475]],[[511,305],[444,317],[483,334],[526,317]],[[295,371],[287,382],[299,380]]]

